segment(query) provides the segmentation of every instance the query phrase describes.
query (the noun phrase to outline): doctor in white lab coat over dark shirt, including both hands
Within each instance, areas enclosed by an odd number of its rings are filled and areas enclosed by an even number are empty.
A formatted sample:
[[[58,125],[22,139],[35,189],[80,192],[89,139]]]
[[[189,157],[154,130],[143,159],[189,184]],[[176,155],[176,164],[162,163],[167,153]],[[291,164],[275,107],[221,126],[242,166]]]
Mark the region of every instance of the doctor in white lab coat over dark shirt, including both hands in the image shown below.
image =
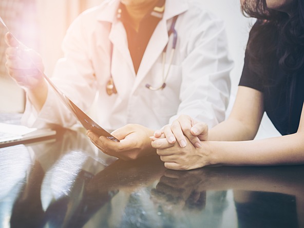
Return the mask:
[[[33,127],[75,118],[36,67],[41,58],[6,35],[7,68],[27,92],[23,121]],[[232,61],[224,24],[200,0],[111,0],[82,13],[67,30],[51,80],[120,142],[87,135],[122,159],[155,153],[149,136],[181,114],[210,127],[224,120]],[[35,62],[29,64],[24,56]]]

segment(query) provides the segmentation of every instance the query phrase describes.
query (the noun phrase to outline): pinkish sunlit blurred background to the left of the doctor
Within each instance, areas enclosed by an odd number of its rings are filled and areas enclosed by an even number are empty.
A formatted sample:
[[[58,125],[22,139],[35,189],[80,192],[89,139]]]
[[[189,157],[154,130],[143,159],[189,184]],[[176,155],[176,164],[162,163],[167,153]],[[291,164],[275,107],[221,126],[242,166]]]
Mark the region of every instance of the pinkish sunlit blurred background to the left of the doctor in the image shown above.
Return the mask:
[[[0,16],[26,46],[42,55],[45,73],[52,74],[62,56],[61,42],[74,18],[102,0],[1,0]],[[24,91],[7,74],[4,34],[0,25],[0,112],[23,112]]]

